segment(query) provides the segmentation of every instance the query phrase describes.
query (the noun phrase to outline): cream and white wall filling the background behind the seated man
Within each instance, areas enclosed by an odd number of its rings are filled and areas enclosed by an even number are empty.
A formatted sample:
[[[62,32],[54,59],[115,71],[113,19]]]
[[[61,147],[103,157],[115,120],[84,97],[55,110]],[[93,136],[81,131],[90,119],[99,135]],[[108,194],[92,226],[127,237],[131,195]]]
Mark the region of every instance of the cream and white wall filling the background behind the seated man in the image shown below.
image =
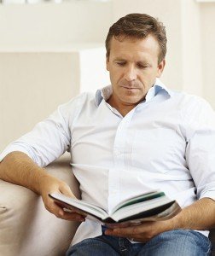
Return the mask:
[[[67,46],[104,44],[113,21],[132,12],[157,16],[166,26],[162,80],[173,89],[204,96],[215,108],[215,3],[70,0],[0,5],[0,151],[61,102],[100,87],[104,80],[108,83],[107,73],[102,73],[104,63],[99,64],[105,61],[104,49],[97,49],[100,57],[90,62],[90,49],[72,56]],[[94,69],[96,73],[90,75]],[[88,84],[93,85],[88,88]]]

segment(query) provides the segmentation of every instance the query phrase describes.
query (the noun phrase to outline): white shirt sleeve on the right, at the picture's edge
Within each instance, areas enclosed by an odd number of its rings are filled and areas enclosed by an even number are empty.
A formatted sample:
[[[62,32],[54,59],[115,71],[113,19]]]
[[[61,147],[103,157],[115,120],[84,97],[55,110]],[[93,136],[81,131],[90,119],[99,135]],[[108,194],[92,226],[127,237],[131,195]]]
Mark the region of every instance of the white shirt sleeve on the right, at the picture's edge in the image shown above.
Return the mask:
[[[189,109],[186,160],[197,198],[215,200],[215,113],[205,101]]]

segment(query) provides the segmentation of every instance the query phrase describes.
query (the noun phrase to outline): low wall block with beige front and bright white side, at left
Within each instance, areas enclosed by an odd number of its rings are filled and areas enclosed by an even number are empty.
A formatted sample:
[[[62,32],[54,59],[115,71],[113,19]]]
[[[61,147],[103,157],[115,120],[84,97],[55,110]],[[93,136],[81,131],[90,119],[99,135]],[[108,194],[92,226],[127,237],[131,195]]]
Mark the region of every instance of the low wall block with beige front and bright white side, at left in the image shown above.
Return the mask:
[[[109,84],[100,44],[24,49],[0,52],[0,151],[61,103]]]

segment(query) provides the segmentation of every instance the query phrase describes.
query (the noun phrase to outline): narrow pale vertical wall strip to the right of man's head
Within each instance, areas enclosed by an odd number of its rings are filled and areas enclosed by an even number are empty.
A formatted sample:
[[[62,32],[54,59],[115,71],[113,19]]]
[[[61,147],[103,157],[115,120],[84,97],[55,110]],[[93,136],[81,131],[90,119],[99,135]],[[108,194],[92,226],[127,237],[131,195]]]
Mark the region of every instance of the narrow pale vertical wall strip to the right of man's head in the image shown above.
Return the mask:
[[[182,51],[183,87],[182,89],[203,96],[203,70],[200,38],[200,3],[194,0],[182,0]],[[173,36],[173,35],[171,35]],[[175,49],[177,50],[177,49]]]

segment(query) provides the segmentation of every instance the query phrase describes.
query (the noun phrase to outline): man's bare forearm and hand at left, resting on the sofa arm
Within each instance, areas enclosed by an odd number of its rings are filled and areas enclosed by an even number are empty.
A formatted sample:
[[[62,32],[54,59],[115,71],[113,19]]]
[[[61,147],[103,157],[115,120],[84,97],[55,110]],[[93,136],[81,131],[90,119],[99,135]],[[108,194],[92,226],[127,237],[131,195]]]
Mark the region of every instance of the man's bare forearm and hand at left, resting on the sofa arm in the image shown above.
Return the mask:
[[[74,197],[67,183],[49,175],[26,154],[19,151],[8,154],[0,163],[0,179],[24,186],[41,195],[46,209],[56,217],[84,221],[83,216],[78,213],[64,212],[49,198],[49,193],[52,192]]]

